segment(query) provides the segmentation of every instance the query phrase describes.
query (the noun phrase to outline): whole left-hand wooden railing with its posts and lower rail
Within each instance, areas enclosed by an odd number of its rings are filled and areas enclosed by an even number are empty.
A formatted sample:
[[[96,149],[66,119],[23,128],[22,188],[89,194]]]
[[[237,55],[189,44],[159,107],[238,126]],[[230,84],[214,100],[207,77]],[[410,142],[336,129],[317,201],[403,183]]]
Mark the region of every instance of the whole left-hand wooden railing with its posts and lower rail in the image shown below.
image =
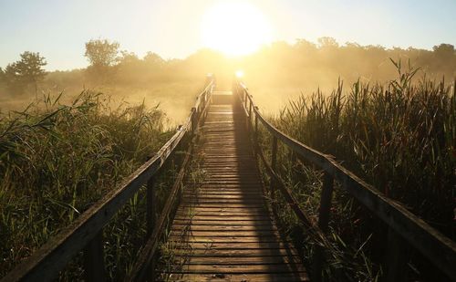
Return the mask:
[[[71,225],[67,226],[58,235],[51,238],[47,244],[40,247],[24,262],[16,266],[2,281],[49,281],[57,278],[59,272],[67,266],[70,260],[84,253],[84,270],[87,281],[106,280],[106,271],[103,255],[103,226],[129,202],[135,193],[140,191],[143,184],[147,183],[147,229],[148,238],[146,246],[136,263],[133,274],[129,279],[138,280],[144,277],[146,269],[154,256],[156,245],[163,234],[164,219],[170,214],[171,205],[176,201],[178,188],[181,187],[184,168],[189,162],[190,153],[184,158],[181,171],[178,173],[167,202],[161,212],[158,222],[155,222],[155,190],[154,180],[157,173],[175,151],[182,145],[187,147],[187,152],[192,151],[193,141],[183,143],[186,136],[192,137],[198,129],[198,124],[204,119],[207,105],[210,103],[214,80],[207,78],[206,87],[197,97],[195,106],[185,124],[179,127],[176,133],[167,141],[161,150],[150,161],[144,163],[133,172],[119,186],[106,194],[101,200],[81,214]],[[146,264],[148,262],[148,264]]]

